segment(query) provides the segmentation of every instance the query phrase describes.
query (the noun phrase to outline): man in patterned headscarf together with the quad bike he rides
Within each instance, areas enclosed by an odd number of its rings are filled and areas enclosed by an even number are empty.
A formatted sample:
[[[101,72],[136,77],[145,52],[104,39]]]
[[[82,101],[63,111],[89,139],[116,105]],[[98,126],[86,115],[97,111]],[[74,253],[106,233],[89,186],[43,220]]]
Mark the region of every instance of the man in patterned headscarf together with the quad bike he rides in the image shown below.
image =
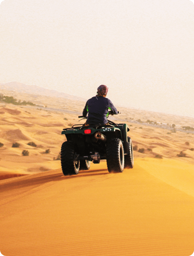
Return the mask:
[[[83,110],[85,124],[64,128],[67,141],[61,145],[61,168],[64,175],[89,170],[90,162],[99,164],[107,160],[109,172],[123,172],[133,168],[133,145],[127,136],[127,124],[115,124],[107,120],[109,114],[118,114],[113,103],[106,98],[108,87],[101,85],[97,95],[87,100]]]

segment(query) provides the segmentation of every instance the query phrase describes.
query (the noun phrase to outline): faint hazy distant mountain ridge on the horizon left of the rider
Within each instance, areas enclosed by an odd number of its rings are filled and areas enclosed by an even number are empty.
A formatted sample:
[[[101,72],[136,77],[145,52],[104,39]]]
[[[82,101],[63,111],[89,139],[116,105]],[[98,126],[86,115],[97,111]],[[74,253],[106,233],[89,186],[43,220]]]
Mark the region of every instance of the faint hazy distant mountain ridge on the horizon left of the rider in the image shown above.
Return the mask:
[[[85,101],[84,98],[73,96],[64,92],[57,92],[56,90],[49,90],[36,85],[26,85],[18,82],[10,82],[0,84],[0,89],[10,90],[21,93],[28,93],[33,95],[44,95],[48,97],[65,98],[69,100]]]

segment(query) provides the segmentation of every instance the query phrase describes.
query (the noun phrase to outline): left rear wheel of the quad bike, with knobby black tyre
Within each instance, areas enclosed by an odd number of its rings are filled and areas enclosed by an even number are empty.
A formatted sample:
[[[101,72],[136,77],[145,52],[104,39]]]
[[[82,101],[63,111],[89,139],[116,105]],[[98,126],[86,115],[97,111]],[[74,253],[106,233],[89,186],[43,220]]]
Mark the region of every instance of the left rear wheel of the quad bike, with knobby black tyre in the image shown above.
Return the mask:
[[[75,144],[71,141],[63,142],[61,146],[61,168],[63,174],[73,175],[79,173],[80,162],[77,160]]]

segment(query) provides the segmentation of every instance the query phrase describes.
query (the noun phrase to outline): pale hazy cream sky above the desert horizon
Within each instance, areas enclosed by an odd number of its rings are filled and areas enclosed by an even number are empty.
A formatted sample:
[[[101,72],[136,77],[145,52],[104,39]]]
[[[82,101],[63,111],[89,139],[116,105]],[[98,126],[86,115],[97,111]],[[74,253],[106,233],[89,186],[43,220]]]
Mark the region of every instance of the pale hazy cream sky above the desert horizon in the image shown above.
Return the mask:
[[[0,82],[194,117],[190,0],[4,0]]]

